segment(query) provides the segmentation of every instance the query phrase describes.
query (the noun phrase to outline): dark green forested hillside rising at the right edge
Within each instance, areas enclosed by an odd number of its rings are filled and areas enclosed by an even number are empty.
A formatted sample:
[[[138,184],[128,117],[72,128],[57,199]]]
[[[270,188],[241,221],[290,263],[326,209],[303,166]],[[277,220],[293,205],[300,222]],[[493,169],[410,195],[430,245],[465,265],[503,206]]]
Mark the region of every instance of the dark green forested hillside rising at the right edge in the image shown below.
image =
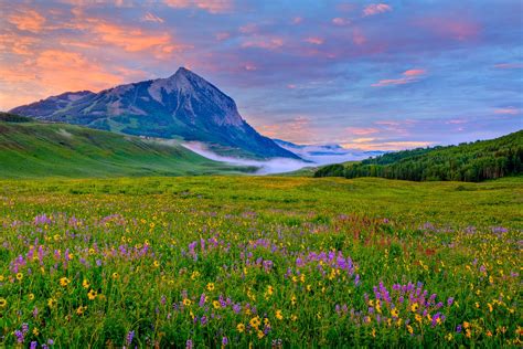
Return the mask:
[[[382,177],[413,181],[479,182],[523,173],[523,130],[459,146],[385,154],[348,166],[331,165],[314,177]]]

